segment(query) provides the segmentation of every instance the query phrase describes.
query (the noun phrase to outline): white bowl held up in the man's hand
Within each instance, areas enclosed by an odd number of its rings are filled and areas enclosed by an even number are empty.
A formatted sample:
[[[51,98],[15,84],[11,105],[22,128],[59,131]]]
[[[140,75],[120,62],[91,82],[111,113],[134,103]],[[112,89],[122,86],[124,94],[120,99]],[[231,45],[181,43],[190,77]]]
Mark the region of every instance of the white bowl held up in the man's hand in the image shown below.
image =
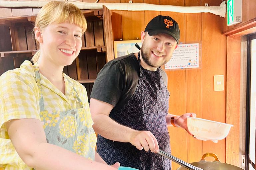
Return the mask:
[[[221,122],[210,121],[201,118],[188,118],[188,130],[200,140],[212,140],[217,143],[227,137],[229,130],[233,125]]]

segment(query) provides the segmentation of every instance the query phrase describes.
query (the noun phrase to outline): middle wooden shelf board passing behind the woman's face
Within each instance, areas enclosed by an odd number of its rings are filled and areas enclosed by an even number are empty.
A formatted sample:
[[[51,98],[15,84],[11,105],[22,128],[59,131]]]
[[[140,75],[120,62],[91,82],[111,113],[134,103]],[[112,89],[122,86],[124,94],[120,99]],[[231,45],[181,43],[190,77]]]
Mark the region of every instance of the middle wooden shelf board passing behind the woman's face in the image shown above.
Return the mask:
[[[81,50],[88,50],[88,49],[97,49],[98,52],[106,52],[106,46],[89,46],[89,47],[82,47]],[[23,50],[23,51],[0,51],[1,57],[18,57],[18,54],[21,53],[31,53],[34,55],[37,50]]]

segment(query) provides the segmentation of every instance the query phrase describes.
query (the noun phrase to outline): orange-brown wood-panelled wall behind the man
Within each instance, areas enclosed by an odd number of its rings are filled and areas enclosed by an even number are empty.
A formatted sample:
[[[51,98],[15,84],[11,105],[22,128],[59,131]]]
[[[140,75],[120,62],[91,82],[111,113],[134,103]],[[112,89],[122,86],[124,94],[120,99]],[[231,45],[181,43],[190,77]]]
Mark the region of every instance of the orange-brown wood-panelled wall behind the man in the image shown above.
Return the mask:
[[[84,2],[95,0],[84,0]],[[99,0],[102,3],[127,3],[129,0]],[[177,6],[219,6],[221,0],[133,0],[133,3],[151,3]],[[17,11],[18,10],[18,11]],[[29,14],[21,14],[24,9],[0,8],[0,17],[6,15],[30,15],[37,9],[29,9]],[[171,93],[169,113],[182,115],[193,112],[197,117],[226,123],[226,88],[214,91],[214,75],[224,75],[226,83],[226,36],[224,18],[211,13],[184,14],[157,11],[112,11],[114,41],[140,39],[147,23],[157,15],[169,15],[179,23],[181,42],[202,42],[202,67],[196,70],[168,71],[168,90]],[[226,84],[224,84],[226,87]],[[187,162],[201,159],[203,153],[215,153],[221,162],[226,162],[226,139],[213,143],[189,136],[184,129],[169,128],[172,154]],[[213,159],[207,159],[213,160]],[[173,169],[179,165],[173,163]]]

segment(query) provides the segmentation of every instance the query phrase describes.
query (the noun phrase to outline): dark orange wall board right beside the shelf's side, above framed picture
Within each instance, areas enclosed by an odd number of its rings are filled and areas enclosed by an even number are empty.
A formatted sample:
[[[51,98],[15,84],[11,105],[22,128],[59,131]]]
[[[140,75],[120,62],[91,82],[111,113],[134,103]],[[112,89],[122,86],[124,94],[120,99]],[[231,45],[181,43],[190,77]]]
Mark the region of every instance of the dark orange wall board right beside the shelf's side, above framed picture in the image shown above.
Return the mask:
[[[111,10],[112,32],[114,41],[123,39],[121,10]]]

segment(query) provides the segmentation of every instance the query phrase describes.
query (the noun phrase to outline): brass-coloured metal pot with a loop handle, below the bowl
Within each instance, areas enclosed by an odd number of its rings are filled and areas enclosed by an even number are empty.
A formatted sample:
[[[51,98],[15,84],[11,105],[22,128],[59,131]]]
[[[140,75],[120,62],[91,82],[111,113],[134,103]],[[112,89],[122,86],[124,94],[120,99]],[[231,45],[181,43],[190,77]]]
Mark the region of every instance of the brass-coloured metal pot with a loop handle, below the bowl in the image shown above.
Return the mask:
[[[215,160],[213,162],[206,161],[205,157],[207,156],[212,156],[215,158]],[[217,155],[215,155],[214,153],[205,153],[199,162],[192,162],[190,164],[202,168],[203,170],[243,170],[242,168],[239,168],[237,166],[220,162]],[[187,169],[181,166],[177,170]]]

